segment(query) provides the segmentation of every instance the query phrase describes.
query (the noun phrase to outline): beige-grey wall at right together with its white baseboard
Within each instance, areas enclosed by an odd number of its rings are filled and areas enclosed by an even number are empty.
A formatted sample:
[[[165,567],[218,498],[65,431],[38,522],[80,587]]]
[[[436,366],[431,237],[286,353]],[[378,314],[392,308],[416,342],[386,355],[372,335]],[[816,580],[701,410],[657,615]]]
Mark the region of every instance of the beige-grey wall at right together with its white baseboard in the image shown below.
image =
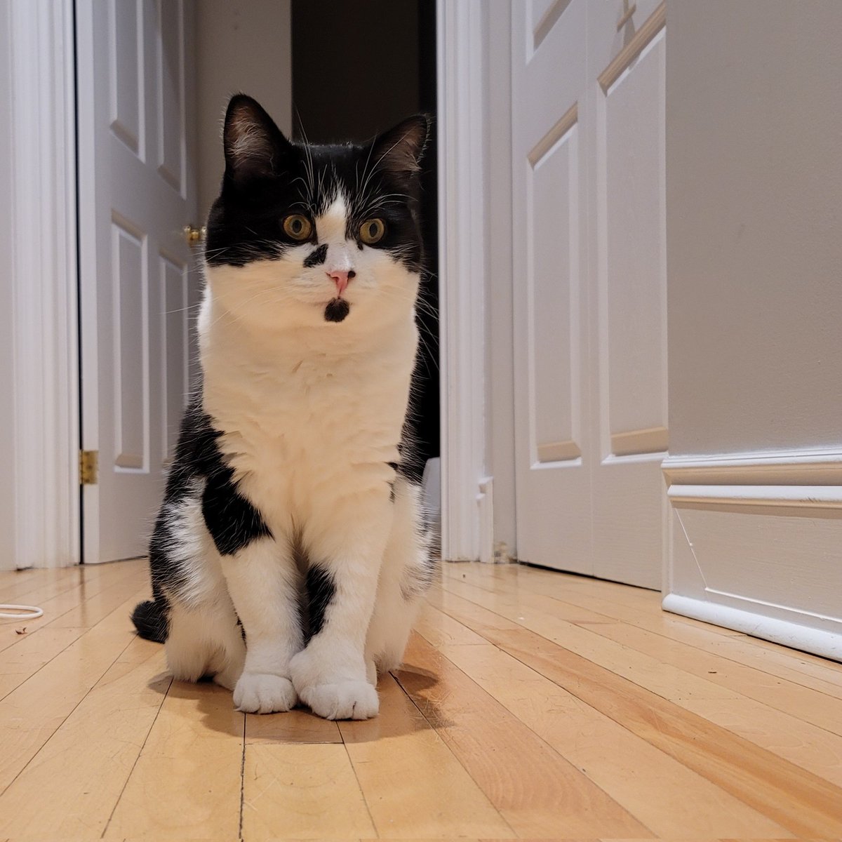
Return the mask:
[[[667,28],[663,604],[842,659],[842,3]]]

